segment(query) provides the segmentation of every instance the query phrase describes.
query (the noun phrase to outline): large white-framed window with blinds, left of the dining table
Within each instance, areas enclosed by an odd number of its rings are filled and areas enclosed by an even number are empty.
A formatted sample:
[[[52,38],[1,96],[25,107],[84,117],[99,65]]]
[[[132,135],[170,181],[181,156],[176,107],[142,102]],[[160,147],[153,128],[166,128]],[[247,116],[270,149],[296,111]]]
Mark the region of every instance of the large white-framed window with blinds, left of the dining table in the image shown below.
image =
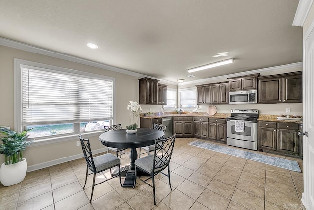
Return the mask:
[[[16,128],[32,128],[30,138],[103,131],[113,123],[114,78],[18,61]]]

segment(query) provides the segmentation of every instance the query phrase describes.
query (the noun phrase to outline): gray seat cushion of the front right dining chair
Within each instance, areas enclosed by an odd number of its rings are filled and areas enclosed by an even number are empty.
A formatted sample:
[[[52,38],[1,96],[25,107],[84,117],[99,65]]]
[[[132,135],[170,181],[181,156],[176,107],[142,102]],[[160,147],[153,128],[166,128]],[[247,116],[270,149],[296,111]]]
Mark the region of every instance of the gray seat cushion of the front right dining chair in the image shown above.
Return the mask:
[[[167,165],[164,164],[164,162],[167,161],[164,157],[156,156],[156,160],[157,160],[157,158],[159,158],[159,159],[162,158],[163,162],[160,161],[158,163],[158,165],[155,166],[154,172],[162,171],[163,169],[165,169],[167,167]],[[158,162],[158,160],[157,160],[157,162]],[[154,155],[148,155],[148,156],[145,156],[145,157],[142,157],[142,158],[135,160],[135,166],[136,167],[139,167],[140,169],[143,169],[144,171],[146,171],[147,173],[150,173],[150,174],[153,172],[153,165],[154,165]]]

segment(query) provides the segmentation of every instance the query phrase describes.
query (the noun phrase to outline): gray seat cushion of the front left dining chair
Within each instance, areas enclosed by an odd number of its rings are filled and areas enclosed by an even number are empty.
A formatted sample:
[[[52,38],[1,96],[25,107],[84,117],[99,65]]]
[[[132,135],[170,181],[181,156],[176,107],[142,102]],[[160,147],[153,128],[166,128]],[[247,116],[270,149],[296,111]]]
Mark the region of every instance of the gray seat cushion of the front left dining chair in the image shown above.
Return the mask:
[[[107,153],[104,155],[96,156],[93,158],[94,164],[96,167],[96,172],[106,170],[108,168],[112,168],[115,165],[120,164],[120,159],[115,157],[111,153]],[[90,168],[93,171],[93,168]]]

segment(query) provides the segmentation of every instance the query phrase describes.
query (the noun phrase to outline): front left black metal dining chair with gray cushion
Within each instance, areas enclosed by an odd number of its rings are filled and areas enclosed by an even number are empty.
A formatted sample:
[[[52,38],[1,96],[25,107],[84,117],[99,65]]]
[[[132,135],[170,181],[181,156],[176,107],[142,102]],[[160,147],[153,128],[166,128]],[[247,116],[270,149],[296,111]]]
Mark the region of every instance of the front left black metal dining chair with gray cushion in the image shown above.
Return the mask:
[[[120,185],[122,186],[122,184],[121,184],[121,174],[120,174],[120,159],[118,157],[115,157],[111,153],[107,153],[107,154],[104,154],[104,155],[93,157],[92,150],[90,148],[89,139],[84,139],[84,138],[82,138],[81,134],[79,134],[79,140],[80,140],[80,143],[81,143],[81,146],[82,146],[82,150],[83,150],[83,154],[84,154],[84,157],[85,157],[85,160],[86,160],[86,164],[87,164],[86,176],[85,176],[85,184],[83,186],[83,189],[86,186],[87,176],[90,175],[90,174],[94,174],[93,186],[92,186],[92,194],[91,194],[90,200],[89,200],[89,202],[91,202],[92,198],[93,198],[94,187],[96,185],[101,184],[103,182],[106,182],[108,180],[111,180],[111,179],[119,176]],[[115,166],[118,166],[119,174],[116,175],[116,176],[112,176],[111,168],[113,168]],[[91,170],[92,173],[88,174],[88,169]],[[107,179],[105,174],[103,173],[103,171],[105,171],[107,169],[110,169],[111,178],[109,178],[109,179]],[[105,176],[106,180],[103,181],[103,182],[95,184],[95,178],[96,178],[96,174],[97,173],[102,173]]]

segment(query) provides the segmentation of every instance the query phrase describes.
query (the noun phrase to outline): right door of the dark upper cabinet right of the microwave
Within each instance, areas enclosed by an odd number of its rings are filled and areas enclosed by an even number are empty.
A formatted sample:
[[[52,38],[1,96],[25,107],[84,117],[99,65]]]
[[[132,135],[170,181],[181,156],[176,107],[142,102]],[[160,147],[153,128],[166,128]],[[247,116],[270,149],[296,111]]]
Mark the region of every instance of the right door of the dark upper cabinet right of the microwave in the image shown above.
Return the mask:
[[[302,103],[302,74],[283,77],[283,102]]]

